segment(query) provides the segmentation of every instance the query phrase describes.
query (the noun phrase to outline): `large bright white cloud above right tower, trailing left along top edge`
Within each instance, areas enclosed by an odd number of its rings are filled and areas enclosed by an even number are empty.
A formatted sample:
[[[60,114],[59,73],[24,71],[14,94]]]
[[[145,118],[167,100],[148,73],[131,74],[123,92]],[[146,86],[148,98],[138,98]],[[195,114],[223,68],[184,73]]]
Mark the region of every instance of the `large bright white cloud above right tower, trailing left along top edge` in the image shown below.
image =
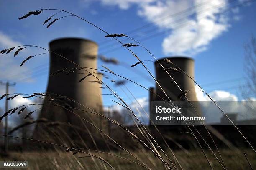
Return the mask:
[[[249,0],[243,0],[243,2]],[[101,0],[103,5],[128,9],[138,6],[138,15],[169,32],[162,48],[165,55],[196,55],[230,27],[226,10],[228,0]],[[189,10],[187,10],[189,9]],[[181,11],[183,11],[181,13]],[[184,12],[186,11],[186,12]],[[234,8],[237,14],[239,8]],[[179,15],[177,15],[179,13]],[[233,20],[238,20],[238,16]]]

